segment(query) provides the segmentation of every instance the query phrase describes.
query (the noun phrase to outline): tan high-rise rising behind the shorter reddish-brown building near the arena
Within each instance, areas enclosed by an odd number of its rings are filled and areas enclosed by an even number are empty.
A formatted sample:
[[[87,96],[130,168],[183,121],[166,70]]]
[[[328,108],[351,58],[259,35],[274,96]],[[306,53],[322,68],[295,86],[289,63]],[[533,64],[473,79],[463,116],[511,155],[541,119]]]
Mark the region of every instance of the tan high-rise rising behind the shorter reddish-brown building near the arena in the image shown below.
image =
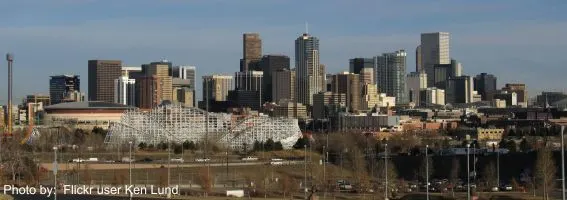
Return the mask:
[[[142,65],[142,71],[145,73],[145,76],[156,76],[160,81],[160,96],[162,101],[173,100],[173,78],[170,74],[171,68],[171,62],[167,60]]]

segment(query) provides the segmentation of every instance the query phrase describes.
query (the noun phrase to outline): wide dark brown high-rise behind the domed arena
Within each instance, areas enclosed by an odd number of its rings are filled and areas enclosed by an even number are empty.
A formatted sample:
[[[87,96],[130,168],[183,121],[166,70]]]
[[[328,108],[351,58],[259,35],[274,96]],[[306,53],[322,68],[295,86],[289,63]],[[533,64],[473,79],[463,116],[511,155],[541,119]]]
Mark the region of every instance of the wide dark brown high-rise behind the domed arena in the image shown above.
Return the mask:
[[[120,60],[89,60],[88,100],[114,102],[114,80],[122,75]]]

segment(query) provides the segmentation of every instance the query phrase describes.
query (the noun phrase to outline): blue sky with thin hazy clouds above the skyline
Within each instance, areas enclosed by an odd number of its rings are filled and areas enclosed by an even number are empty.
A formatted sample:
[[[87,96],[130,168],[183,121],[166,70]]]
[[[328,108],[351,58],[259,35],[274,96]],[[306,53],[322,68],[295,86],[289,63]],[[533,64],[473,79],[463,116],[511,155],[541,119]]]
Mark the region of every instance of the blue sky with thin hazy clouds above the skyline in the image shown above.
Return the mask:
[[[261,34],[264,54],[293,60],[305,21],[320,39],[328,72],[348,70],[349,58],[398,49],[409,52],[409,72],[420,33],[446,31],[465,74],[492,73],[499,85],[523,82],[532,96],[565,88],[565,10],[565,0],[3,0],[0,52],[15,55],[20,99],[47,94],[49,76],[57,74],[80,75],[86,92],[89,59],[140,65],[165,58],[197,66],[199,80],[233,74],[243,32]],[[0,67],[2,104],[4,61]]]

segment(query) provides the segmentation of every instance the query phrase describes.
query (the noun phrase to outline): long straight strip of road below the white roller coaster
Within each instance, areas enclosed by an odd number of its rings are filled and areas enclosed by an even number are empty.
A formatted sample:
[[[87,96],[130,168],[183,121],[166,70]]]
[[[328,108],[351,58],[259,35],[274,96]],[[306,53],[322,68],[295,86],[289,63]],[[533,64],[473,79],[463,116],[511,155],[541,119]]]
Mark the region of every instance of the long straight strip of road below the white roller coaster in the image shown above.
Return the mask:
[[[251,166],[251,165],[266,165],[269,162],[231,162],[228,163],[229,167],[234,166]],[[298,165],[303,164],[303,161],[284,161],[286,165]],[[66,171],[72,170],[80,165],[80,168],[84,168],[88,165],[89,169],[91,170],[107,170],[107,169],[129,169],[129,163],[60,163],[58,165],[57,170],[59,171]],[[181,168],[195,168],[195,167],[203,167],[203,166],[211,166],[211,167],[226,167],[226,163],[171,163],[171,167],[181,167]],[[53,163],[42,163],[41,166],[48,171],[53,170]],[[133,169],[152,169],[152,168],[161,168],[167,167],[167,163],[132,163]]]

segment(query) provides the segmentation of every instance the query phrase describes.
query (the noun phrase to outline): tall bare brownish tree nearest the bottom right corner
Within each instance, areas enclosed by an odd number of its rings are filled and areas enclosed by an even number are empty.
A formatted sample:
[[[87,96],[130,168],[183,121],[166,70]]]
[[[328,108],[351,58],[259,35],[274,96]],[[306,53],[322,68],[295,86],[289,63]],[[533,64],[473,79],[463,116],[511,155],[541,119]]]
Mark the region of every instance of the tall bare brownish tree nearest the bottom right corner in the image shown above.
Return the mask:
[[[553,191],[555,186],[556,170],[551,150],[547,148],[539,149],[535,169],[537,185],[543,187],[544,199],[549,199],[548,194],[550,191]]]

